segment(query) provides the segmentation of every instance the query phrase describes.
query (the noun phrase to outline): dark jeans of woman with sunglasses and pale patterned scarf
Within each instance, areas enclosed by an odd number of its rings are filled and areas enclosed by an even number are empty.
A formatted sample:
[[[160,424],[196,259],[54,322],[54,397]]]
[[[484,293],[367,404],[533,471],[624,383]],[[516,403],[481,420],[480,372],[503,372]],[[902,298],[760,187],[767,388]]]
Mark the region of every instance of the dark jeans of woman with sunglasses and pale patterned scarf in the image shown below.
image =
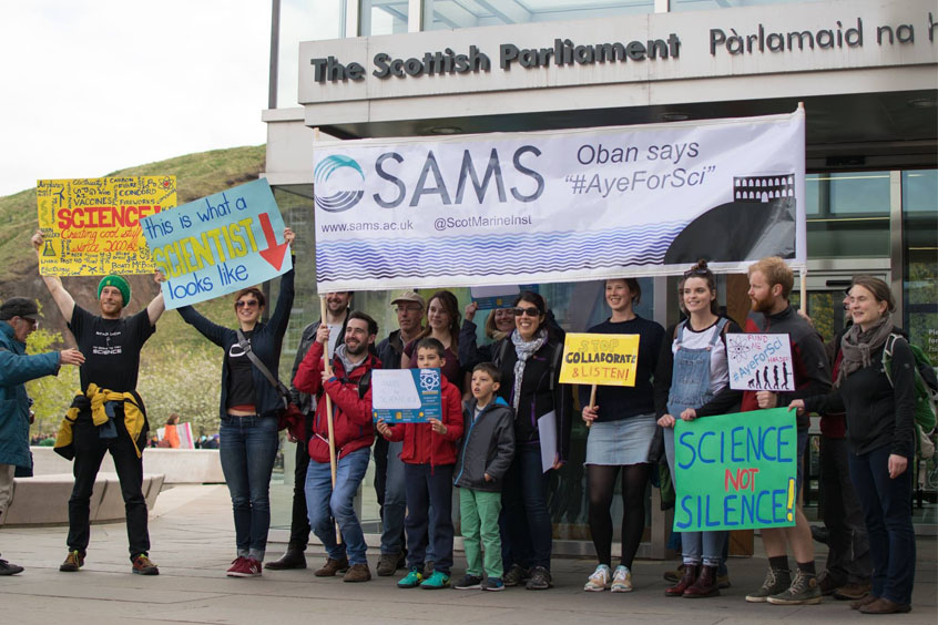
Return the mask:
[[[501,551],[504,570],[512,564],[526,568],[543,566],[550,571],[553,526],[547,506],[550,472],[541,470],[541,445],[514,448],[514,459],[504,475],[502,491],[503,536]]]

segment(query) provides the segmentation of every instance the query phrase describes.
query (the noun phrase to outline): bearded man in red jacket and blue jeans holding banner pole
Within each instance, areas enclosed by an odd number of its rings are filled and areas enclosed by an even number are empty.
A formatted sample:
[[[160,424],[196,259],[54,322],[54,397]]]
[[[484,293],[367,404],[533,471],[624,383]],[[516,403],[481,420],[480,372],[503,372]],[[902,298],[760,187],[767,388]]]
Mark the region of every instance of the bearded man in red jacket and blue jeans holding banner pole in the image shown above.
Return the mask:
[[[371,426],[371,370],[380,361],[371,354],[378,324],[364,312],[349,314],[345,344],[336,347],[333,375],[324,371],[323,346],[329,340],[329,327],[319,326],[316,342],[293,380],[298,390],[318,397],[313,432],[309,438],[309,469],[306,473],[306,508],[309,525],[323,541],[328,559],[316,571],[317,577],[330,577],[345,571],[345,582],[371,578],[365,552],[365,534],[355,515],[354,499],[371,454],[375,439]],[[326,396],[333,404],[333,438],[336,450],[336,483],[329,467],[329,429]],[[335,522],[334,522],[335,521]],[[338,523],[343,544],[336,541]]]

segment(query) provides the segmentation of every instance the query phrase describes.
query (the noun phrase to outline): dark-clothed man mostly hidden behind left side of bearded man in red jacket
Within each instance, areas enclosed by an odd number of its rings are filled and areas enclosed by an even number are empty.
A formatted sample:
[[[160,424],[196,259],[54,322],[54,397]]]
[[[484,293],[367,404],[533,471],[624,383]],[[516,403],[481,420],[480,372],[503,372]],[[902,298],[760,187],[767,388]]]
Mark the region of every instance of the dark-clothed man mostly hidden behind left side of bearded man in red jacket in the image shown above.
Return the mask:
[[[351,301],[351,291],[338,291],[326,295],[326,325],[329,326],[329,348],[328,356],[333,357],[337,346],[343,344],[345,338],[345,325],[348,321],[348,315],[351,312],[349,303]],[[303,429],[305,438],[302,441],[296,441],[296,465],[293,472],[293,516],[289,522],[289,543],[287,543],[286,553],[279,560],[268,562],[264,565],[265,568],[272,571],[283,571],[286,568],[306,568],[306,545],[309,543],[309,516],[306,513],[306,470],[309,467],[309,452],[306,450],[306,441],[309,440],[309,432],[313,426],[313,414],[316,411],[315,398],[308,393],[302,392],[293,386],[293,378],[296,377],[296,370],[299,369],[299,363],[309,351],[309,346],[316,341],[316,331],[323,320],[313,321],[305,328],[299,337],[299,346],[296,349],[296,358],[293,361],[293,370],[290,371],[290,401],[299,407],[304,416]]]

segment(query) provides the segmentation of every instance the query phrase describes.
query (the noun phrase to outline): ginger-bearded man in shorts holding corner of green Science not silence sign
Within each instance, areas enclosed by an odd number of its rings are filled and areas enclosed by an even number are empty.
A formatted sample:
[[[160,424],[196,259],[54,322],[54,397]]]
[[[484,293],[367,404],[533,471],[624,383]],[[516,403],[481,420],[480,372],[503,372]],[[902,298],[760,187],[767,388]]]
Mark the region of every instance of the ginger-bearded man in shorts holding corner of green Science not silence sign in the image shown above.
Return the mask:
[[[830,390],[830,368],[820,336],[788,304],[794,286],[792,269],[776,256],[763,258],[750,267],[752,311],[746,318],[746,332],[787,334],[792,344],[795,390],[791,392],[745,391],[742,411],[786,407],[795,399],[825,395]],[[803,458],[807,448],[808,414],[798,412],[797,500],[794,527],[766,527],[762,531],[769,571],[762,587],[746,595],[751,603],[778,605],[820,603],[820,588],[814,565],[810,526],[802,511],[801,488]],[[792,546],[797,571],[792,578],[787,545]]]

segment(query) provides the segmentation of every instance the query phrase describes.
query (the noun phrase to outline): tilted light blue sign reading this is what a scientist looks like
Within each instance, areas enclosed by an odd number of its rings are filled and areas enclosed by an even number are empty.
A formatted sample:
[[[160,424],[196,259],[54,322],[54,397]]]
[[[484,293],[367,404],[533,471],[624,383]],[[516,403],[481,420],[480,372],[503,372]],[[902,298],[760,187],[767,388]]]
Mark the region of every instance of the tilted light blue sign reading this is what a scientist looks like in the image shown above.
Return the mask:
[[[141,221],[163,273],[166,308],[204,301],[293,267],[284,221],[264,178]]]

